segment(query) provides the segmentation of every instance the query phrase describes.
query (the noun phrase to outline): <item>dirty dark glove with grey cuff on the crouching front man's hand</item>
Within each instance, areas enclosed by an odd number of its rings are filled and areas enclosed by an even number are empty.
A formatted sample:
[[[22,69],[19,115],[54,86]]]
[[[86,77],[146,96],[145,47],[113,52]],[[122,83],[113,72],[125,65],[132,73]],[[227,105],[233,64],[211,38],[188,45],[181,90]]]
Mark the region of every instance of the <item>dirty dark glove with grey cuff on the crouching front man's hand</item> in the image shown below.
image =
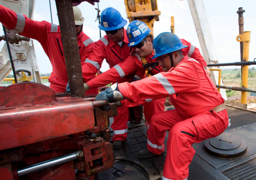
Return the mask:
[[[123,100],[123,94],[119,92],[117,83],[110,86],[108,89],[100,92],[94,101],[107,100],[110,103],[118,102]],[[102,111],[109,111],[111,109],[110,105],[101,106],[100,109]]]

